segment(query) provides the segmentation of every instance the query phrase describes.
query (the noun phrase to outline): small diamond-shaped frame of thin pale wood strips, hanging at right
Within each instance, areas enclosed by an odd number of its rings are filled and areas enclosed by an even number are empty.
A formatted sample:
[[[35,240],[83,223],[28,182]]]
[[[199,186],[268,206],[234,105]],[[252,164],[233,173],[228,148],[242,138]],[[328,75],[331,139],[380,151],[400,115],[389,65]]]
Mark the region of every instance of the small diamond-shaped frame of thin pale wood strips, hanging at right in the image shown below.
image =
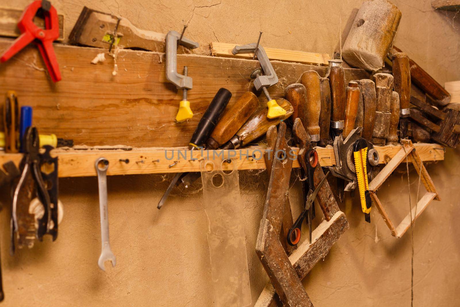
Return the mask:
[[[431,203],[433,199],[437,201],[441,200],[433,184],[433,181],[431,180],[430,175],[426,171],[426,168],[420,159],[419,154],[417,153],[417,151],[415,151],[415,147],[414,144],[412,144],[412,141],[402,139],[401,145],[403,145],[403,147],[396,154],[396,156],[394,156],[390,160],[390,162],[388,162],[388,164],[386,164],[385,167],[380,171],[380,173],[377,174],[377,176],[375,176],[375,178],[369,183],[370,195],[372,197],[372,200],[374,201],[375,206],[379,210],[379,213],[385,221],[386,226],[388,226],[388,228],[390,229],[391,234],[397,238],[402,237],[404,233],[407,232],[411,224],[415,221],[417,217],[420,216],[420,214],[426,209],[426,207],[428,207],[428,205]],[[390,220],[390,217],[388,216],[388,213],[386,212],[384,206],[380,202],[380,199],[377,197],[376,193],[380,186],[390,176],[390,174],[397,168],[399,164],[401,164],[401,162],[403,162],[406,156],[409,158],[409,161],[412,162],[412,164],[414,165],[415,170],[420,176],[420,180],[423,182],[423,185],[425,185],[426,193],[420,198],[420,200],[417,203],[417,206],[414,206],[414,208],[412,208],[412,212],[409,212],[406,215],[406,217],[401,221],[401,223],[399,223],[399,225],[395,227],[393,225],[393,222]],[[417,212],[415,212],[415,209],[417,209]]]

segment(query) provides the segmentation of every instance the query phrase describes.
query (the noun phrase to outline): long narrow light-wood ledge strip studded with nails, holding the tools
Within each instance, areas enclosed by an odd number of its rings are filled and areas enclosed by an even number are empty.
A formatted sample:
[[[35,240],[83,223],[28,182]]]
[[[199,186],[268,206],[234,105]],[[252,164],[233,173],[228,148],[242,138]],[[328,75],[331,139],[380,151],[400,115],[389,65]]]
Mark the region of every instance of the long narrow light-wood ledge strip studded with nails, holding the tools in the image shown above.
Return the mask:
[[[420,153],[422,161],[437,161],[444,160],[444,151],[441,145],[437,144],[415,144],[414,147]],[[392,158],[401,150],[401,146],[374,146],[380,156],[380,163],[385,163],[385,158]],[[178,151],[181,155],[178,155]],[[298,148],[293,148],[295,154],[298,153]],[[165,153],[166,151],[166,153]],[[316,147],[318,152],[319,162],[321,166],[331,166],[335,164],[334,149],[332,146],[327,148]],[[235,157],[238,160],[238,169],[264,169],[265,160],[261,158],[264,152],[260,147],[249,147],[237,149]],[[172,155],[174,157],[172,158]],[[218,156],[219,154],[219,156]],[[247,159],[254,154],[255,159]],[[55,149],[52,155],[58,157],[59,177],[84,177],[96,176],[94,169],[94,161],[97,158],[104,156],[110,163],[107,171],[108,175],[128,175],[128,174],[164,174],[178,172],[199,172],[201,152],[194,151],[193,157],[196,160],[190,160],[190,151],[186,147],[179,148],[132,148],[131,150],[109,150],[109,149],[88,149],[88,150],[64,150]],[[207,157],[207,151],[203,151],[203,155]],[[210,152],[210,157],[213,153]],[[216,151],[215,159],[229,155],[229,151]],[[233,153],[231,154],[233,155]],[[185,158],[186,156],[186,158]],[[167,157],[167,158],[166,158]],[[0,165],[5,162],[13,161],[16,165],[21,161],[22,154],[11,154],[0,152]],[[120,159],[129,159],[129,163],[120,162]],[[169,160],[168,160],[169,159]],[[159,160],[159,161],[158,161]],[[144,162],[141,162],[144,161]],[[169,165],[174,161],[179,161],[173,167]],[[411,161],[409,159],[409,161]],[[136,163],[137,162],[137,163]],[[225,165],[225,164],[224,164]],[[299,162],[296,159],[293,161],[293,167],[299,168]]]

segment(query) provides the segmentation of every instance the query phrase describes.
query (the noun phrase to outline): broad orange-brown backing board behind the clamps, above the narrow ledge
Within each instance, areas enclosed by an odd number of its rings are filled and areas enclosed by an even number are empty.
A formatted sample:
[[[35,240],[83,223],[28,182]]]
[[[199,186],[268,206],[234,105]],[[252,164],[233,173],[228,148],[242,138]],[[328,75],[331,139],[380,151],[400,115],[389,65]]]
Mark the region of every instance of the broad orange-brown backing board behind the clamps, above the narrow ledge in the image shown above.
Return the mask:
[[[0,52],[11,45],[0,39]],[[182,91],[169,83],[165,54],[120,50],[114,59],[107,55],[100,64],[91,60],[104,50],[54,44],[62,80],[46,76],[38,48],[26,47],[0,65],[0,94],[17,92],[19,104],[34,109],[34,125],[40,133],[73,139],[75,145],[129,145],[134,147],[177,147],[188,145],[203,112],[220,87],[233,94],[229,106],[243,93],[253,91],[250,74],[260,67],[257,60],[219,58],[195,54],[177,56],[178,67],[188,66],[193,89],[188,92],[195,113],[188,122],[175,122]],[[327,67],[272,61],[278,84],[268,89],[272,98],[284,97],[284,89],[305,70],[321,76]],[[348,81],[369,78],[364,70],[345,69]],[[266,98],[258,93],[264,106]],[[0,131],[2,124],[0,124]]]

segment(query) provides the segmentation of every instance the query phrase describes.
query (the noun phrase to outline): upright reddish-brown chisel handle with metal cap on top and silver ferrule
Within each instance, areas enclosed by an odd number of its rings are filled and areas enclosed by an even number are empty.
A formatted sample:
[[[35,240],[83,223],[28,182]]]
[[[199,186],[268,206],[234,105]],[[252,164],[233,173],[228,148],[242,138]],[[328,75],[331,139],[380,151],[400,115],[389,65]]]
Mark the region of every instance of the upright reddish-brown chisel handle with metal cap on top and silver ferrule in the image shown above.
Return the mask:
[[[331,127],[341,133],[345,120],[345,72],[342,60],[329,60],[329,82],[332,97]]]

